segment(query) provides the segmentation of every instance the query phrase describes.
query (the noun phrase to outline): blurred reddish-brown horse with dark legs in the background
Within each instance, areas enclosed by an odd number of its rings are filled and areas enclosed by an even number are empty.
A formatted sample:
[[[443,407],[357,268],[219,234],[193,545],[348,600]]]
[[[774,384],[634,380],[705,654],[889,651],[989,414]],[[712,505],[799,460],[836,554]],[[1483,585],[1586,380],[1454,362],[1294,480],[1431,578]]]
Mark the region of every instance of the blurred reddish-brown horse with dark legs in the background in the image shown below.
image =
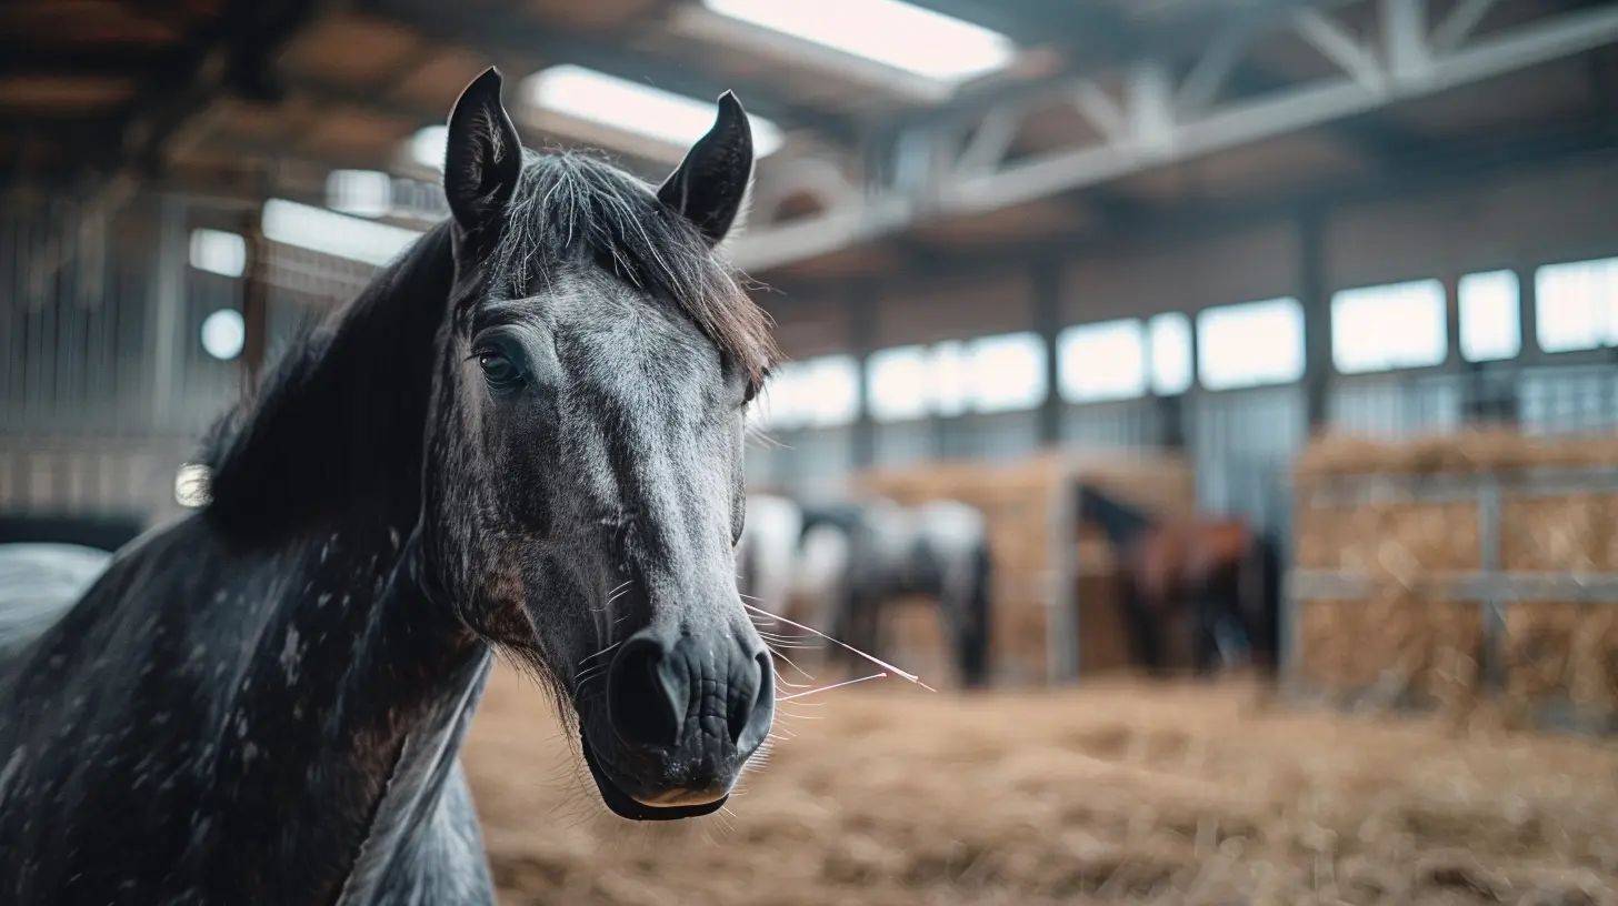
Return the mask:
[[[1239,626],[1247,655],[1273,678],[1280,641],[1280,558],[1273,539],[1243,519],[1160,523],[1092,484],[1078,487],[1078,519],[1097,524],[1115,552],[1116,594],[1136,660],[1165,670],[1162,628],[1191,612],[1192,667],[1209,675],[1231,658]]]

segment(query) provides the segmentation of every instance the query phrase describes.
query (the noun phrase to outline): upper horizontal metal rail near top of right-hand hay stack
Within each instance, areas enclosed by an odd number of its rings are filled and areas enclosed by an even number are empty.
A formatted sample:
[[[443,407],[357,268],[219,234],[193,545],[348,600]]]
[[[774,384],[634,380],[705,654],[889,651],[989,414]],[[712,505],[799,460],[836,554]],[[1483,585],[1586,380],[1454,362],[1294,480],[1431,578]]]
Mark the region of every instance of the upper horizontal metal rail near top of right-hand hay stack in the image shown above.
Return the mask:
[[[1332,476],[1304,479],[1293,493],[1302,506],[1377,503],[1459,503],[1476,500],[1484,482],[1511,497],[1618,495],[1618,466],[1542,466],[1502,472],[1435,472],[1427,476]]]

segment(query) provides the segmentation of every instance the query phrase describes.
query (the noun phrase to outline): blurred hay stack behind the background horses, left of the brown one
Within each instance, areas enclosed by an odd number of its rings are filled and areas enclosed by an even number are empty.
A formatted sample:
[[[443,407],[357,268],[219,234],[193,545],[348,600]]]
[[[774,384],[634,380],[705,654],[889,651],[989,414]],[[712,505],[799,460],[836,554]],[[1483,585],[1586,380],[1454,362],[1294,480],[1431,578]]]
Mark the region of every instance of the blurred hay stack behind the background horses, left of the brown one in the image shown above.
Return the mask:
[[[1063,545],[1050,539],[1053,508],[1081,479],[1157,511],[1186,513],[1196,503],[1184,461],[1146,453],[1060,451],[1013,463],[932,463],[867,472],[859,487],[906,505],[959,500],[984,513],[995,561],[995,673],[1002,683],[1036,684],[1048,675],[1048,600],[1060,574],[1052,552],[1058,548],[1078,558],[1081,670],[1128,667],[1105,539],[1092,531]],[[932,613],[929,607],[900,608],[892,629],[895,654],[914,658],[911,663],[942,663],[942,634]]]

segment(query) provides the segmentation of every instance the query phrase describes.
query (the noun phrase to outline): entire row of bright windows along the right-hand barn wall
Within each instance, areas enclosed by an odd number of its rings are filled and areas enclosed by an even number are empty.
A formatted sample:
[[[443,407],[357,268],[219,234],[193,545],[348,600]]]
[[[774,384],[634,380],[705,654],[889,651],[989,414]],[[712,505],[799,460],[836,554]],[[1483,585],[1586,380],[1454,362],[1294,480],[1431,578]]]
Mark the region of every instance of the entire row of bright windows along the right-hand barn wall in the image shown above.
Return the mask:
[[[1534,275],[1535,338],[1547,353],[1618,346],[1618,259],[1540,267]],[[1466,361],[1523,351],[1518,277],[1469,273],[1458,285],[1459,353]],[[1192,341],[1196,369],[1192,369]],[[1343,290],[1332,298],[1332,361],[1340,374],[1437,366],[1448,358],[1443,283],[1416,280]],[[1057,392],[1068,403],[1147,393],[1288,383],[1304,374],[1304,317],[1298,299],[1267,299],[1074,325],[1057,337]],[[867,406],[879,422],[1032,409],[1047,395],[1045,345],[1006,333],[869,356]],[[756,417],[772,429],[832,427],[859,411],[851,356],[791,362],[770,382]]]

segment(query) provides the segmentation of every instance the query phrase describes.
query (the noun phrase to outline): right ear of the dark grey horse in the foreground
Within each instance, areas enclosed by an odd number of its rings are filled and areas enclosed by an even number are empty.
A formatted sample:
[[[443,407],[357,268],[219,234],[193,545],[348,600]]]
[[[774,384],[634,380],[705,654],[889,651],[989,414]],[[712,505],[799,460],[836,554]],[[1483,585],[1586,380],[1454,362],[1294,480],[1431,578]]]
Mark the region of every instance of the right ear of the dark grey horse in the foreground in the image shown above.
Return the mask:
[[[657,201],[696,225],[710,246],[730,233],[752,181],[752,125],[733,92],[718,97],[718,118],[663,180]]]

